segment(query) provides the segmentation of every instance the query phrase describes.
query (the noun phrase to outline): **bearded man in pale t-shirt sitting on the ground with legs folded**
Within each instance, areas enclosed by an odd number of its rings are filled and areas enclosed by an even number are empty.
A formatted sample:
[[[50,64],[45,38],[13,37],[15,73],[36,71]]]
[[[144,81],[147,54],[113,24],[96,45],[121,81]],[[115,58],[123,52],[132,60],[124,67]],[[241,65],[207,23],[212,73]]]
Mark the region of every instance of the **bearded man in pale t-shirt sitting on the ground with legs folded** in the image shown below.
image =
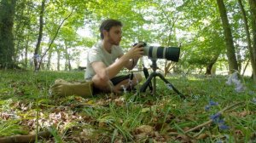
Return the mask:
[[[129,89],[141,82],[140,74],[117,75],[124,67],[131,70],[137,65],[137,61],[143,56],[143,47],[140,47],[142,45],[138,43],[126,54],[123,53],[119,47],[122,38],[122,23],[119,20],[104,20],[100,26],[100,32],[102,39],[88,52],[86,82],[80,84],[56,82],[52,88],[56,94],[88,95],[85,90],[91,87],[91,83],[93,84],[92,92],[119,94],[122,87]]]

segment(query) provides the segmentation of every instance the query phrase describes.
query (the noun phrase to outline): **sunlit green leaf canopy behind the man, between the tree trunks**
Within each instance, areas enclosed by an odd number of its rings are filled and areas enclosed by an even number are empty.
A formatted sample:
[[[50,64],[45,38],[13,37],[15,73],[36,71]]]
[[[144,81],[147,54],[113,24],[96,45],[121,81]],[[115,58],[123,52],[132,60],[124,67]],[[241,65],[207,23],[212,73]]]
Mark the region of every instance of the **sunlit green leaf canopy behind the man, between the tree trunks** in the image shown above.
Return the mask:
[[[241,26],[240,9],[235,1],[226,3],[230,24],[235,40],[245,41]],[[248,9],[247,3],[244,4]],[[99,39],[98,27],[102,20],[111,18],[124,23],[122,47],[131,48],[133,43],[144,41],[161,46],[182,46],[180,67],[202,68],[218,57],[224,57],[224,37],[215,1],[170,1],[119,0],[119,1],[49,1],[44,14],[44,40],[41,44],[43,54],[55,36],[61,21],[72,13],[61,26],[55,43],[46,54],[48,65],[55,54],[67,61],[79,61],[81,47],[90,48]],[[40,1],[19,1],[15,14],[15,61],[28,60],[35,47],[38,35],[38,13]],[[78,31],[89,28],[93,37],[81,37]],[[203,39],[203,40],[202,40]],[[238,43],[240,44],[240,43]],[[34,46],[33,46],[34,45]],[[240,45],[238,45],[240,47]],[[84,49],[82,49],[84,50]],[[74,52],[68,52],[74,51]],[[242,53],[244,49],[241,49]],[[25,54],[23,54],[25,53]],[[70,56],[68,56],[70,54]],[[245,55],[241,55],[242,57]],[[247,59],[245,56],[243,60]],[[21,60],[20,60],[21,59]],[[219,60],[220,61],[220,60]],[[220,61],[221,62],[221,61]],[[48,69],[50,69],[48,67]]]

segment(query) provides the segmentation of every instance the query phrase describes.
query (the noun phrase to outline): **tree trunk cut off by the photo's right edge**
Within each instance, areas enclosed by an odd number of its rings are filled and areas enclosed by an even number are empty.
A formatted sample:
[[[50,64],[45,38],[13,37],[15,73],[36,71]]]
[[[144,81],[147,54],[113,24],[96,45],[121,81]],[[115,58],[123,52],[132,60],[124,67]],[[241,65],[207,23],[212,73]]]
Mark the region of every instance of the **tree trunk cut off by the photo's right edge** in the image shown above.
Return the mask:
[[[256,1],[248,0],[250,3],[251,9],[251,20],[252,20],[252,29],[253,29],[253,46],[252,46],[252,55],[251,55],[251,63],[253,67],[253,81],[256,83]]]

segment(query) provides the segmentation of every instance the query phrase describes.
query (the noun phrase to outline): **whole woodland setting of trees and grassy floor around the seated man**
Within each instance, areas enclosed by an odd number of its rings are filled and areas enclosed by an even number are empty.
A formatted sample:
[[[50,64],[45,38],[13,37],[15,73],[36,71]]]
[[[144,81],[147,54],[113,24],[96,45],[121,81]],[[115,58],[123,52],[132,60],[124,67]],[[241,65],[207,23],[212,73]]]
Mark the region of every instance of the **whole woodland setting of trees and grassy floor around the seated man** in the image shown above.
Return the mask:
[[[157,64],[185,99],[161,80],[155,95],[50,94],[84,79],[108,18],[125,50],[181,47]],[[255,142],[255,69],[255,0],[0,0],[0,142]]]

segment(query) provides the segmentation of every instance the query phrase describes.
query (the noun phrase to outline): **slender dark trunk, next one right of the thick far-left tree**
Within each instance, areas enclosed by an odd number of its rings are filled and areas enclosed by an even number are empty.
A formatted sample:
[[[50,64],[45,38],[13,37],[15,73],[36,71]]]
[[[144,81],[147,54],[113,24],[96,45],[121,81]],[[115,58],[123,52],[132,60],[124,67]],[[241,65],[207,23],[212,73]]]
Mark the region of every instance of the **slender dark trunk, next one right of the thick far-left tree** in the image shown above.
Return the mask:
[[[43,37],[45,1],[46,0],[42,0],[41,10],[40,10],[38,43],[36,45],[36,49],[35,49],[35,52],[34,52],[35,71],[39,70],[38,60],[40,58],[40,56],[39,56],[39,49],[40,49],[40,44],[41,44],[42,37]]]

